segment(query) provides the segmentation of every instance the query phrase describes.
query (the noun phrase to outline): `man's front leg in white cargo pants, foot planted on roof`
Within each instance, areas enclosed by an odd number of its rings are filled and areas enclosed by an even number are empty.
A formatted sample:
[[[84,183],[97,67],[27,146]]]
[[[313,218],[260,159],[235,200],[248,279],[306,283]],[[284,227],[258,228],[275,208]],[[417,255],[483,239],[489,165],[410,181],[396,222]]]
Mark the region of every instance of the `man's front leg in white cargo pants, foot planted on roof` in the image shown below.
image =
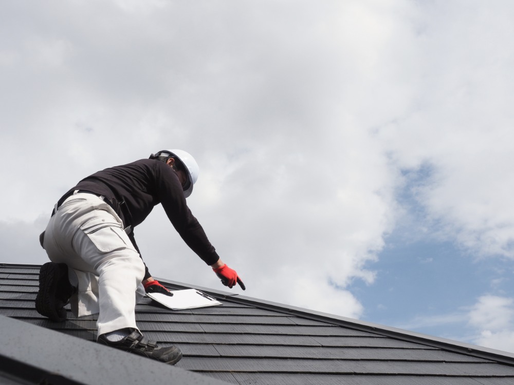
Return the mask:
[[[135,307],[142,292],[144,264],[123,229],[104,226],[112,220],[108,211],[97,210],[96,218],[84,223],[74,237],[74,248],[82,259],[96,267],[100,314],[98,342],[169,364],[182,358],[177,347],[159,347],[139,332]]]

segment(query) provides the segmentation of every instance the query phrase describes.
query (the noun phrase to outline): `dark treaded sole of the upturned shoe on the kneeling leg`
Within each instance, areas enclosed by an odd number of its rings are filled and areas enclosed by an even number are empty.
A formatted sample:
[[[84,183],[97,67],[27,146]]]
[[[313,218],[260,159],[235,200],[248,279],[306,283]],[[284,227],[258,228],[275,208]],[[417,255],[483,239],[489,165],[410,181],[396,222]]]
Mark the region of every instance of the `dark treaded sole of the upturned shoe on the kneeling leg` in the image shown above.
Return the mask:
[[[58,263],[47,262],[41,266],[41,270],[39,272],[39,292],[35,298],[36,311],[38,311],[42,316],[48,317],[52,321],[57,322],[66,320],[66,311],[64,311],[64,316],[62,316],[57,312],[56,306],[57,286],[63,275],[63,267]]]

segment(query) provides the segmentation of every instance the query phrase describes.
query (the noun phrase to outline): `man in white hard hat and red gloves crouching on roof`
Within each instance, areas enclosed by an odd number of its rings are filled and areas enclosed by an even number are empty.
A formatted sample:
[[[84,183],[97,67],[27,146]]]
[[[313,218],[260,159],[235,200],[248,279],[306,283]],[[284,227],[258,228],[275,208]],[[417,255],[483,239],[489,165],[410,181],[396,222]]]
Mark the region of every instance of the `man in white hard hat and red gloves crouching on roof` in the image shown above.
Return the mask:
[[[186,198],[198,178],[194,158],[162,150],[81,180],[58,201],[41,235],[49,259],[41,267],[36,310],[64,321],[69,301],[77,317],[98,313],[98,342],[175,364],[176,347],[159,347],[136,326],[135,306],[145,292],[172,295],[140,258],[134,227],[162,204],[188,246],[232,288],[245,285],[216,254]]]

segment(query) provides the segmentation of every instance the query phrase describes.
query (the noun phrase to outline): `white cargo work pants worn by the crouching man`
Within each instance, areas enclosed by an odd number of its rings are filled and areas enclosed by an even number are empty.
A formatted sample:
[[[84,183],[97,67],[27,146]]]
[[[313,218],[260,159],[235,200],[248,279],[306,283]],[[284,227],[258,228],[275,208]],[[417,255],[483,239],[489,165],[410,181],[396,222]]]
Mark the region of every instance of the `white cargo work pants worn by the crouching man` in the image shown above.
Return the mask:
[[[44,248],[52,262],[77,274],[78,294],[70,298],[76,316],[99,313],[99,336],[137,329],[144,264],[111,206],[93,194],[71,195],[50,218]]]

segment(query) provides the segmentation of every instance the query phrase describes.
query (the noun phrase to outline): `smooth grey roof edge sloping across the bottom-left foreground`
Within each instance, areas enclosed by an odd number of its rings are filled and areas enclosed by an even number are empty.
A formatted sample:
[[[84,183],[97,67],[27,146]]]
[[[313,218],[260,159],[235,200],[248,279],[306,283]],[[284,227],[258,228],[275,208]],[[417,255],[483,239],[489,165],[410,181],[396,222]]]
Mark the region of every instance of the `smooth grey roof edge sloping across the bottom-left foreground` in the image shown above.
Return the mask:
[[[227,383],[2,315],[0,329],[0,374],[20,383]]]

